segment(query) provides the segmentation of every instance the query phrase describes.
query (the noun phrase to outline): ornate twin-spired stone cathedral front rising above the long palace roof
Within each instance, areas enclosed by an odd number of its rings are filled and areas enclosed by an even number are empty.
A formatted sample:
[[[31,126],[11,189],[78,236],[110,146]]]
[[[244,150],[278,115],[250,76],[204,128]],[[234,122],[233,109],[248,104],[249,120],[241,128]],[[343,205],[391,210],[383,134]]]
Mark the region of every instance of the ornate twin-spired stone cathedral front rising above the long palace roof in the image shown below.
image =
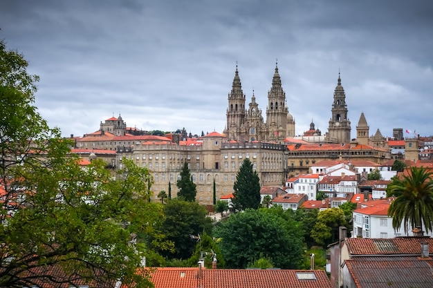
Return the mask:
[[[228,95],[224,135],[228,140],[237,142],[284,142],[287,137],[295,136],[295,120],[291,113],[288,113],[286,93],[282,87],[277,65],[272,86],[268,91],[266,121],[261,113],[254,92],[250,104],[246,107],[246,95],[243,94],[236,66],[232,90]]]

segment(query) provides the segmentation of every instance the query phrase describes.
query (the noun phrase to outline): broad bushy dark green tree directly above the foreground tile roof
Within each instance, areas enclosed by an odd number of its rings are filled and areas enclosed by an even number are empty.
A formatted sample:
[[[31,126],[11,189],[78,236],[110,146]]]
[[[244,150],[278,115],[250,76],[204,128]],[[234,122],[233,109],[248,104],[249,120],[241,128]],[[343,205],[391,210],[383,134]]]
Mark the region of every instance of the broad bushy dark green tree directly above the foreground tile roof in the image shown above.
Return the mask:
[[[286,220],[273,210],[246,209],[216,226],[214,236],[221,238],[225,267],[243,269],[260,258],[283,269],[300,265],[302,231],[297,222]]]

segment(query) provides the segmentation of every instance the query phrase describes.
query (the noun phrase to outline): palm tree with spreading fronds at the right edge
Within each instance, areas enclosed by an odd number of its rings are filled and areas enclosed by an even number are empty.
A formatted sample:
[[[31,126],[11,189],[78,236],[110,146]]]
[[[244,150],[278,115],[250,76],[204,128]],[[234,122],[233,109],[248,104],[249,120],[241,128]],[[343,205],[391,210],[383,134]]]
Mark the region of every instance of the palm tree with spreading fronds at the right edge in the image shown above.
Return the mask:
[[[392,227],[405,233],[409,226],[425,227],[433,231],[433,172],[424,167],[411,167],[409,175],[395,177],[387,186],[387,197],[396,199],[389,205],[388,215],[392,216]]]

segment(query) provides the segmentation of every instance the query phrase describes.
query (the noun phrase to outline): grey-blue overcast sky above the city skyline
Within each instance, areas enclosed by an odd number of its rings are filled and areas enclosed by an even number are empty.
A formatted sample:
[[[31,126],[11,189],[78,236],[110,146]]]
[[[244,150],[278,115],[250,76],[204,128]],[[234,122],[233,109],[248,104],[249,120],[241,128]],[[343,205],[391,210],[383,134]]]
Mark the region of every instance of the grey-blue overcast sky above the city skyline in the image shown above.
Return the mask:
[[[352,137],[362,112],[371,135],[433,135],[430,0],[1,0],[0,29],[65,136],[119,113],[143,130],[222,133],[236,65],[266,119],[276,59],[297,135],[312,120],[328,131],[339,71]]]

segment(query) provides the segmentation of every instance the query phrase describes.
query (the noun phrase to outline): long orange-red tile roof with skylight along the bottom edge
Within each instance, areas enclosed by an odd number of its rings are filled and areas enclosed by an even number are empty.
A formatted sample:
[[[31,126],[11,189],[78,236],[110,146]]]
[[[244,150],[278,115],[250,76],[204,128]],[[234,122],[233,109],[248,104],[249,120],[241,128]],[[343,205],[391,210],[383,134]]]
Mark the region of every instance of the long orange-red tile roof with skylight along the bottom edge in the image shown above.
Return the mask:
[[[151,282],[155,288],[331,288],[325,271],[319,270],[202,269],[201,272],[198,278],[198,268],[157,268]]]

